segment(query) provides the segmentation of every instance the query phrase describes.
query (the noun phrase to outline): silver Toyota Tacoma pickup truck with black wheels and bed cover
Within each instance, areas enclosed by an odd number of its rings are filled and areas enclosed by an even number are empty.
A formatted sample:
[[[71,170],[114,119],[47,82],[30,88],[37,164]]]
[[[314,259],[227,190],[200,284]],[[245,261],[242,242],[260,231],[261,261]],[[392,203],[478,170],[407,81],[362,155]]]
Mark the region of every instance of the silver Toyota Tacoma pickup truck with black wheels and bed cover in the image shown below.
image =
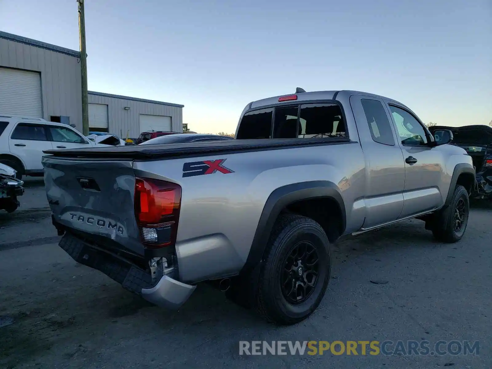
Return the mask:
[[[294,324],[323,298],[340,237],[409,218],[463,236],[472,159],[398,101],[298,88],[247,104],[235,138],[46,151],[60,246],[158,306],[212,281]]]

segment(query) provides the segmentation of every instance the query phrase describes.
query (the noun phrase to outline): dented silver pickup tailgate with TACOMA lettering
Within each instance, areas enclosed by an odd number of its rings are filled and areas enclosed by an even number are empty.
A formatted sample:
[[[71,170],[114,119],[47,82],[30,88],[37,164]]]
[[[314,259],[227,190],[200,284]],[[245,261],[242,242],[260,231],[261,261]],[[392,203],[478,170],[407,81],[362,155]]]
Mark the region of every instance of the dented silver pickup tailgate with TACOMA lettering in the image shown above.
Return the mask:
[[[131,159],[43,157],[55,222],[94,242],[144,255],[135,220]]]

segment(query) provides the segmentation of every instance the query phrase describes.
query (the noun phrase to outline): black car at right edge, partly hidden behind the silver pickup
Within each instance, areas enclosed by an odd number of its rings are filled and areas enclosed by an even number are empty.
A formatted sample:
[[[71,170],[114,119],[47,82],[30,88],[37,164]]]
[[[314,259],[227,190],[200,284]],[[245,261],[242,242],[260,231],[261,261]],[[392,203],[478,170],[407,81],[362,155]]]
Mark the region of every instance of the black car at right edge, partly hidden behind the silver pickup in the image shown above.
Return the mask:
[[[492,199],[492,127],[482,124],[462,127],[434,125],[429,129],[432,134],[438,129],[453,132],[451,143],[466,150],[475,167],[477,182],[471,197]]]

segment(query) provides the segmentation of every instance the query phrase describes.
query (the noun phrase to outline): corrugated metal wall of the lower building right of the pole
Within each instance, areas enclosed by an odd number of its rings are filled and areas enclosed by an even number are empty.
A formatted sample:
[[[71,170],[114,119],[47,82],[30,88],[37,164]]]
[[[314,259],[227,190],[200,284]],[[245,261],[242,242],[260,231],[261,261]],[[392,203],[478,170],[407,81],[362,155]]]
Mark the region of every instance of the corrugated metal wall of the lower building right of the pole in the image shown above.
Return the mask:
[[[178,106],[127,100],[91,93],[89,93],[89,103],[108,105],[109,132],[122,138],[126,138],[127,132],[129,137],[138,137],[140,134],[140,114],[171,117],[172,130],[174,132],[183,131],[183,108]],[[130,110],[124,110],[125,106],[129,107]]]

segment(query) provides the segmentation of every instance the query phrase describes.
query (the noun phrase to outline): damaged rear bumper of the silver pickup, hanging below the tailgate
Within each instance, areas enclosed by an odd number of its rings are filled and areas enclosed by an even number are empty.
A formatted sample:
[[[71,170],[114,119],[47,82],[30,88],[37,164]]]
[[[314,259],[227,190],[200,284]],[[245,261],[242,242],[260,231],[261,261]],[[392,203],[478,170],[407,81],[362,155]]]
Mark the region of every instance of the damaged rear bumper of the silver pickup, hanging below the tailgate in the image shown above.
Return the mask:
[[[159,307],[181,307],[196,288],[167,275],[153,281],[149,272],[118,255],[87,244],[68,232],[63,236],[59,246],[76,262],[104,273],[120,283],[124,289]]]

